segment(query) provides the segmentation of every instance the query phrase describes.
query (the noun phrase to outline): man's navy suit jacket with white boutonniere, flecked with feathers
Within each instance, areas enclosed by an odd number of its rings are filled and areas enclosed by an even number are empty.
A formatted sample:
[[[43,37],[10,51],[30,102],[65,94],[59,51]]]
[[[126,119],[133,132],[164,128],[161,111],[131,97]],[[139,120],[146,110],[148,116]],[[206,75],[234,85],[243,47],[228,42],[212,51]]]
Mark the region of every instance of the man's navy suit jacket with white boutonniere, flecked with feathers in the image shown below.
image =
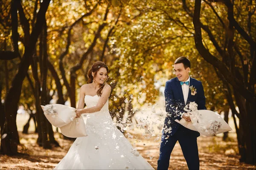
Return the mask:
[[[175,119],[181,119],[181,114],[186,112],[184,111],[184,107],[185,105],[189,104],[189,102],[196,102],[198,104],[198,110],[206,109],[204,88],[202,82],[190,77],[189,86],[192,85],[196,88],[197,94],[195,94],[194,96],[191,95],[191,90],[189,88],[188,99],[185,104],[182,88],[178,78],[176,77],[166,82],[164,96],[166,101],[167,115],[164,122],[163,135],[173,136],[177,131],[178,127],[182,126],[179,123],[175,122]],[[195,134],[198,136],[200,135],[198,132],[195,132]]]

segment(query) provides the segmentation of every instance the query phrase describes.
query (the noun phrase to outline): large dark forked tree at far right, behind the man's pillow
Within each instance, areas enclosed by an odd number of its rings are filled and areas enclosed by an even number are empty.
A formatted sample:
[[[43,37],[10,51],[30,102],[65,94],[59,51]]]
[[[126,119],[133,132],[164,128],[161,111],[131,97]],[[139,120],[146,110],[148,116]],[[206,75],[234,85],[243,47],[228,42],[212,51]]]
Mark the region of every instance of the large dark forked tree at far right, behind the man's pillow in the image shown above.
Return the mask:
[[[183,0],[185,2],[185,0]],[[256,150],[255,150],[255,138],[256,138],[256,125],[255,125],[255,74],[256,74],[256,61],[255,61],[255,42],[252,37],[239,26],[233,16],[233,3],[230,0],[221,1],[227,6],[227,14],[229,21],[229,33],[228,37],[228,62],[221,62],[217,57],[213,56],[209,50],[204,47],[202,42],[202,32],[201,32],[201,23],[200,23],[200,11],[201,11],[201,0],[195,1],[195,8],[193,14],[193,24],[195,28],[195,46],[201,54],[201,56],[210,64],[212,64],[215,68],[217,68],[224,77],[224,80],[227,81],[233,87],[233,93],[236,98],[236,104],[239,107],[239,135],[241,137],[241,146],[244,146],[241,150],[245,150],[245,153],[241,154],[241,160],[245,161],[249,164],[256,163]],[[184,3],[183,3],[184,4]],[[235,57],[233,55],[233,33],[234,28],[238,31],[239,34],[244,37],[244,39],[250,44],[251,53],[250,57],[252,59],[252,65],[250,66],[250,70],[247,72],[250,76],[250,81],[243,82],[243,80],[247,81],[245,75],[241,76],[240,72],[237,69]],[[242,57],[241,61],[243,61]],[[243,65],[244,63],[241,62]],[[244,65],[243,65],[244,66]],[[244,72],[246,74],[246,72]],[[247,83],[249,85],[247,85]]]

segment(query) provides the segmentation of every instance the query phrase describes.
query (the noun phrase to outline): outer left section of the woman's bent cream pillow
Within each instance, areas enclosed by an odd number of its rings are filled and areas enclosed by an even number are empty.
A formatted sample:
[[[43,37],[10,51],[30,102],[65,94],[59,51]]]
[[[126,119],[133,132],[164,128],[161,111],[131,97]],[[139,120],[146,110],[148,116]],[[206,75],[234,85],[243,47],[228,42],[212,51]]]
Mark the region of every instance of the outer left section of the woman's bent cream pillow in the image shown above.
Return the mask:
[[[55,127],[62,127],[76,118],[76,109],[66,105],[52,104],[42,106],[45,117]]]

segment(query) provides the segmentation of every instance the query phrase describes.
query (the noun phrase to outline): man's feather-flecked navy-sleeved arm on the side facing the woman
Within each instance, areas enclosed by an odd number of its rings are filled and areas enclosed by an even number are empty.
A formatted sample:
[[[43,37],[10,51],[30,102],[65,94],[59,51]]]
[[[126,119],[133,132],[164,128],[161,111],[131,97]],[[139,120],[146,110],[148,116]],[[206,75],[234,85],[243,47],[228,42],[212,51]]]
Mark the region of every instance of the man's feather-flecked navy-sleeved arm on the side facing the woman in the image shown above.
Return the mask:
[[[167,81],[164,89],[164,97],[166,101],[166,112],[173,120],[181,119],[181,116],[176,114],[176,102],[174,100],[171,82]]]

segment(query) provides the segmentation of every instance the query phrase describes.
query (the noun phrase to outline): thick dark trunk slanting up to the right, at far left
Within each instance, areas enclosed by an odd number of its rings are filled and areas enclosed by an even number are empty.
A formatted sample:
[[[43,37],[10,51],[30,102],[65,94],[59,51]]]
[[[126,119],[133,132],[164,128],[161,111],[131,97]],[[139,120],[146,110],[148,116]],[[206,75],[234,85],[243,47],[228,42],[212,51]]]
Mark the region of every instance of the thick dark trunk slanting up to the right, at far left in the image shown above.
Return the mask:
[[[41,32],[41,29],[43,26],[42,21],[45,20],[45,13],[47,11],[48,6],[49,6],[49,1],[43,1],[43,3],[41,3],[40,10],[38,11],[38,14],[37,14],[37,22],[35,23],[35,27],[33,28],[32,33],[29,37],[29,45],[25,45],[25,52],[21,59],[17,74],[12,80],[11,88],[6,94],[6,99],[5,99],[6,122],[3,128],[3,133],[6,133],[7,136],[1,140],[1,145],[3,145],[2,146],[3,152],[9,155],[17,154],[17,144],[19,144],[19,136],[18,136],[17,125],[16,125],[17,104],[20,100],[22,82],[26,77],[26,73],[29,69],[29,65],[30,65],[29,61],[32,59],[35,43],[38,39],[38,35]]]

